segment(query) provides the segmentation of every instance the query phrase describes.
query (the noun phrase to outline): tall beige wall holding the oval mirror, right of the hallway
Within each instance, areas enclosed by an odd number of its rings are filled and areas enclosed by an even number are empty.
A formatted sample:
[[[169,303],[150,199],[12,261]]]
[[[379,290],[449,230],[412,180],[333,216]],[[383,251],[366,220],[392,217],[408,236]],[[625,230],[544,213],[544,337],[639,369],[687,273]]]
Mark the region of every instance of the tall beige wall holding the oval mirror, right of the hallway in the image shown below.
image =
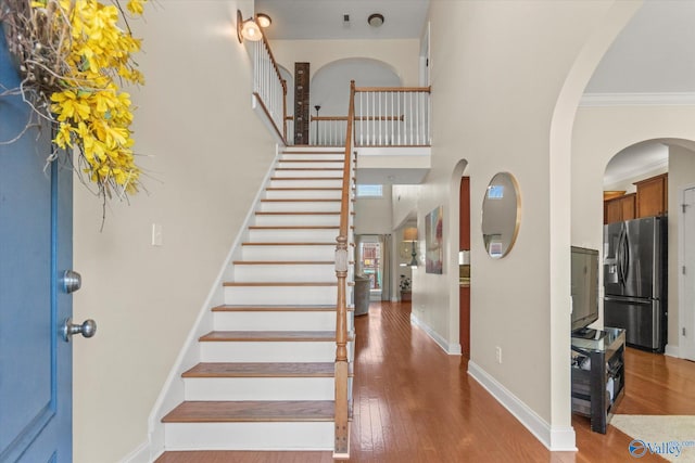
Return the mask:
[[[393,193],[394,223],[415,208],[420,235],[426,214],[444,207],[444,274],[414,271],[413,312],[451,347],[458,343],[455,250],[459,177],[466,167],[472,224],[471,363],[497,391],[531,410],[530,421],[540,423],[541,438],[551,446],[555,432],[571,434],[571,124],[591,73],[637,5],[434,0],[432,168],[420,188],[399,187]],[[493,260],[476,224],[488,182],[498,171],[518,180],[522,216],[515,248]],[[496,347],[502,363],[495,360]],[[573,445],[573,435],[569,440]]]

